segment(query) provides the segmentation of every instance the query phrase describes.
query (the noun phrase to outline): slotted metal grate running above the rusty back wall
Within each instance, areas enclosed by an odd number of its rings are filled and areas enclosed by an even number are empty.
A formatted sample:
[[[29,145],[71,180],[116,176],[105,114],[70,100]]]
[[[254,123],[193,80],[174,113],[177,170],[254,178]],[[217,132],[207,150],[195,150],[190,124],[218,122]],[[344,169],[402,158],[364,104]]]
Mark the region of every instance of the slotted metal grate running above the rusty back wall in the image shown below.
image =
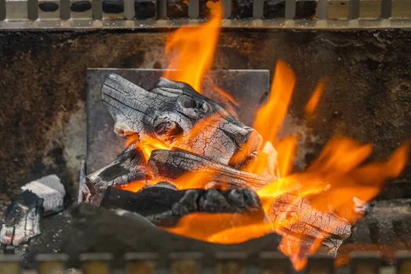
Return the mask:
[[[410,0],[221,0],[223,27],[410,27]],[[165,28],[206,20],[206,0],[0,0],[0,29]],[[360,19],[360,20],[358,20]]]

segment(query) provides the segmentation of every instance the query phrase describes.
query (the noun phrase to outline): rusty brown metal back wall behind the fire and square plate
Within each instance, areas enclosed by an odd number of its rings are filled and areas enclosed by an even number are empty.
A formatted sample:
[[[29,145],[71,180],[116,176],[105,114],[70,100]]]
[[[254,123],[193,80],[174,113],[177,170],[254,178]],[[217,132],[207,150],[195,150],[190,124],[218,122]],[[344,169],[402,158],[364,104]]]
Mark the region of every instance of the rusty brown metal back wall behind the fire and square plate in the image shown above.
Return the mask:
[[[0,203],[19,186],[57,173],[76,188],[86,155],[87,68],[161,69],[165,32],[0,32]],[[401,29],[325,31],[225,29],[214,69],[269,69],[283,58],[297,85],[286,121],[301,127],[303,160],[319,155],[336,134],[373,142],[382,158],[411,136],[411,32]],[[303,105],[329,77],[316,117]],[[382,197],[410,197],[411,169]]]

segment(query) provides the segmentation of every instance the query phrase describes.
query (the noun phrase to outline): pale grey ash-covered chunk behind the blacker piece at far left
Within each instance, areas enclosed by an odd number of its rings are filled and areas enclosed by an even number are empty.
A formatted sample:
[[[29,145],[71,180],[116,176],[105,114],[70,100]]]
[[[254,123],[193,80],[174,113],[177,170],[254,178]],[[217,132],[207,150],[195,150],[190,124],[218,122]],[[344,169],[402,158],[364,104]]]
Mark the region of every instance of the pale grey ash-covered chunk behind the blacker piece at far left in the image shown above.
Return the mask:
[[[63,184],[57,175],[48,175],[21,187],[21,190],[30,190],[38,197],[44,199],[43,208],[45,214],[52,214],[63,210],[64,190]]]

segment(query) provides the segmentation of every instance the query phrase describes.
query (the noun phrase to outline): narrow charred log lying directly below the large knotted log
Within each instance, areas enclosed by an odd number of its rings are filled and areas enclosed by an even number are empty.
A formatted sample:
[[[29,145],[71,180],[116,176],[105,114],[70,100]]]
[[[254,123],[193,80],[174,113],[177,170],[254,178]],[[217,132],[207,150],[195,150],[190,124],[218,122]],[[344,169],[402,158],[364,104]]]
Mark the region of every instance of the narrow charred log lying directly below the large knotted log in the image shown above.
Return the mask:
[[[256,174],[212,162],[207,158],[184,151],[182,149],[154,150],[149,159],[149,170],[154,177],[160,180],[173,180],[173,184],[178,188],[192,188],[193,185],[184,185],[186,177],[180,179],[182,175],[195,176],[195,187],[198,188],[250,188],[258,190],[269,184],[270,181]]]

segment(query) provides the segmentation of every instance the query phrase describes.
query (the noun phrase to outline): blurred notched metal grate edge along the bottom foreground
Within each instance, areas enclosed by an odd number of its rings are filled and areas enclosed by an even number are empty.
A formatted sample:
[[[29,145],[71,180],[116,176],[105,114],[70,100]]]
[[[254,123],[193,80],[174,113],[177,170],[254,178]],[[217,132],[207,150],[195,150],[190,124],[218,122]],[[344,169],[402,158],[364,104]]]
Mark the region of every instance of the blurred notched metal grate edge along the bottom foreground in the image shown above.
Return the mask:
[[[262,252],[254,258],[247,258],[245,253],[216,253],[208,258],[203,253],[170,253],[168,256],[158,253],[127,253],[121,273],[294,273],[288,258],[276,252]],[[329,256],[311,256],[305,273],[331,274],[377,274],[411,273],[411,252],[401,251],[396,254],[395,266],[382,266],[377,252],[363,251],[350,254],[349,267],[334,268],[334,258]],[[60,253],[40,254],[36,257],[39,274],[56,273],[68,268],[68,256]],[[84,253],[79,258],[82,273],[110,273],[113,256],[110,253]],[[116,268],[116,273],[119,269]],[[21,261],[14,255],[0,256],[0,273],[21,273]],[[58,272],[61,273],[61,272]]]

